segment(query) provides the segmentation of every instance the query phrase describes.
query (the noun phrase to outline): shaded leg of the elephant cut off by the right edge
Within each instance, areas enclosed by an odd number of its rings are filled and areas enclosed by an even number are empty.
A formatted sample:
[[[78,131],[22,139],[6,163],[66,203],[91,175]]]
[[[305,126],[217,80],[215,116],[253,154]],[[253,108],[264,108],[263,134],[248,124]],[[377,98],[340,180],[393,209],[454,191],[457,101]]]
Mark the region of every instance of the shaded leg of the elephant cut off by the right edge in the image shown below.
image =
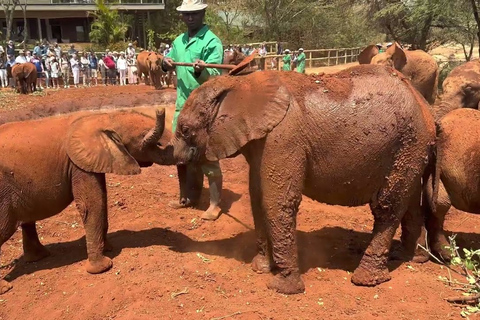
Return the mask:
[[[436,203],[437,208],[435,211],[433,211],[428,207],[428,212],[426,214],[428,244],[433,254],[441,257],[445,261],[450,261],[450,251],[446,249],[450,243],[445,236],[443,224],[445,222],[445,215],[447,214],[448,210],[450,210],[452,203],[442,181],[439,183],[438,198]]]

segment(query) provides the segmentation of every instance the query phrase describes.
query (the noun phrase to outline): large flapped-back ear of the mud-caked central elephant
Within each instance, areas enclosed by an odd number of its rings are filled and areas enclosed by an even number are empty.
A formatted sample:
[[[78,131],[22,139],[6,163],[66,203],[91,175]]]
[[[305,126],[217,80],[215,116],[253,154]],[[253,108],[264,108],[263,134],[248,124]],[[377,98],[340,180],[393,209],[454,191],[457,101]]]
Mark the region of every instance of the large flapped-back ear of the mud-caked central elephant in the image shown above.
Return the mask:
[[[234,85],[217,100],[218,111],[207,142],[209,161],[232,156],[249,141],[265,137],[285,118],[291,96],[284,86],[268,78],[249,87]]]

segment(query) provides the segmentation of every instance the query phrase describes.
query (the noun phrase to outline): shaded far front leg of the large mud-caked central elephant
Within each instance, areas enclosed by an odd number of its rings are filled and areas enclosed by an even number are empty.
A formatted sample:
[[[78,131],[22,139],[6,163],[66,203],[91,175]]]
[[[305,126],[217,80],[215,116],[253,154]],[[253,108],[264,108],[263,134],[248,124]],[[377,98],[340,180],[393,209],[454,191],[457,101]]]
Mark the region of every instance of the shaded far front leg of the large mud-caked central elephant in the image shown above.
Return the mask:
[[[252,260],[252,269],[257,273],[268,273],[272,270],[272,254],[269,251],[265,222],[265,210],[262,203],[259,163],[250,163],[249,192],[252,206],[253,222],[257,236],[257,255]]]

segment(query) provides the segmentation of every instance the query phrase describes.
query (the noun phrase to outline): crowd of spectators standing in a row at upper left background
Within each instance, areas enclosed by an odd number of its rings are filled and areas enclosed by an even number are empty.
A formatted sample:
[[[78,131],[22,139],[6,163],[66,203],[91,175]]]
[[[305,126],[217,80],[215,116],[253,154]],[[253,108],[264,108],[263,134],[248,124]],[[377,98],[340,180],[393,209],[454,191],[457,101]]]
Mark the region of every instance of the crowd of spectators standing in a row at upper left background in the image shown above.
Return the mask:
[[[162,50],[162,53],[168,53],[168,49]],[[73,44],[67,52],[63,52],[58,43],[37,42],[33,50],[19,50],[16,54],[13,41],[9,41],[5,49],[0,46],[0,87],[13,88],[15,83],[8,70],[26,62],[33,63],[37,69],[39,89],[139,83],[136,50],[132,43],[125,51],[107,49],[105,53],[97,54],[93,51],[79,52]]]

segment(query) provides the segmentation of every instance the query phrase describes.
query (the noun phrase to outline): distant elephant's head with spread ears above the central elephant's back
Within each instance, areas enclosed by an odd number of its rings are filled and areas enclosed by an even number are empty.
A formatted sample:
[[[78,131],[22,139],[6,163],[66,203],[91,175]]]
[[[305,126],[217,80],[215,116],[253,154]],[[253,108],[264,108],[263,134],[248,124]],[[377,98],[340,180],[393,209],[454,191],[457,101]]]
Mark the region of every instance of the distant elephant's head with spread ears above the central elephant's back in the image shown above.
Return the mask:
[[[407,56],[397,42],[382,53],[379,53],[377,46],[370,45],[358,55],[358,62],[360,64],[385,65],[402,70],[407,64]]]

